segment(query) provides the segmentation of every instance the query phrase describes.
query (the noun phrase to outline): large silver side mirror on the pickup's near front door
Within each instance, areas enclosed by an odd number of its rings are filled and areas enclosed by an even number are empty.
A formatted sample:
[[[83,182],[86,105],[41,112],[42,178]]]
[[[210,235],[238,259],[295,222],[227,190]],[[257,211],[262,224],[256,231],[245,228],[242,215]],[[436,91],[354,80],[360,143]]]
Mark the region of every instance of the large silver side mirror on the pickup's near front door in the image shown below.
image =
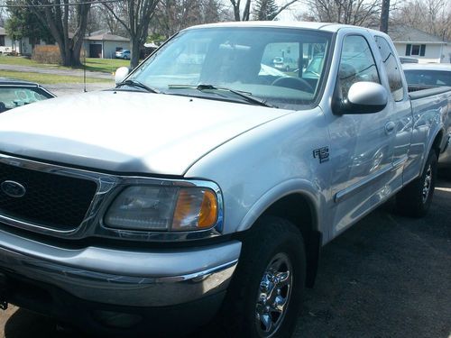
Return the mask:
[[[356,82],[336,107],[339,114],[370,114],[382,111],[387,105],[387,90],[378,83]]]

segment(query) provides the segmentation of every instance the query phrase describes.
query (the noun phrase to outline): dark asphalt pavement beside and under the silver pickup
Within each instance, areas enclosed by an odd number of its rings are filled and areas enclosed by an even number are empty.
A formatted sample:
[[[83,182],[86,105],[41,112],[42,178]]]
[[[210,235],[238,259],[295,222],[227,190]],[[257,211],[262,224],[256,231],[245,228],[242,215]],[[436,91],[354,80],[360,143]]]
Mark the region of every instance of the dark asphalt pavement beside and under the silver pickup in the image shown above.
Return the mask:
[[[7,338],[67,336],[17,308],[0,325]],[[451,338],[451,172],[428,216],[397,215],[389,202],[327,244],[294,337]]]

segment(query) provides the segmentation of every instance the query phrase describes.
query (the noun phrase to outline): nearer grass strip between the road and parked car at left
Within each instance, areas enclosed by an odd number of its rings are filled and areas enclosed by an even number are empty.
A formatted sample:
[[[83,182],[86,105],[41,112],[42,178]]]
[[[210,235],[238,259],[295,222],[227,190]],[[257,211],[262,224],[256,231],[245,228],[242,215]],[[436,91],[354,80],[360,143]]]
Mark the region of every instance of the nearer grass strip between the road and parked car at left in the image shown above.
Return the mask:
[[[0,78],[18,78],[25,81],[38,82],[40,84],[55,84],[55,83],[82,83],[82,77],[69,77],[53,74],[41,74],[14,70],[0,70]],[[105,78],[87,78],[87,83],[95,82],[111,82],[113,80],[108,80]]]

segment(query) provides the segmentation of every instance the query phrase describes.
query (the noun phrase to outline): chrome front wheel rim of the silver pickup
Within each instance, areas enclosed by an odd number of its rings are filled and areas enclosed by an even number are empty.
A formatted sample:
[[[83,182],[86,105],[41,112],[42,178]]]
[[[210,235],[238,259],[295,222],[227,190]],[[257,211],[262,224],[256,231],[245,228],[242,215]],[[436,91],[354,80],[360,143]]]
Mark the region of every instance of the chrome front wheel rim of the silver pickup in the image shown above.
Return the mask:
[[[262,337],[276,333],[290,303],[293,282],[290,258],[286,253],[275,255],[263,273],[255,306],[255,324]]]

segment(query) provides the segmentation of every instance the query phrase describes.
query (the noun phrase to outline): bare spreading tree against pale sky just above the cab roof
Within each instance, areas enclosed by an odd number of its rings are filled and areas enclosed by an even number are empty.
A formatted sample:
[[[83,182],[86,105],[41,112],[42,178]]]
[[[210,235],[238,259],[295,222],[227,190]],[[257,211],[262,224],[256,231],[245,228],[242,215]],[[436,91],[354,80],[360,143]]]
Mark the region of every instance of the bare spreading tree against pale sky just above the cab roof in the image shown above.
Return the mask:
[[[381,0],[303,0],[309,11],[302,19],[323,23],[379,26]]]

